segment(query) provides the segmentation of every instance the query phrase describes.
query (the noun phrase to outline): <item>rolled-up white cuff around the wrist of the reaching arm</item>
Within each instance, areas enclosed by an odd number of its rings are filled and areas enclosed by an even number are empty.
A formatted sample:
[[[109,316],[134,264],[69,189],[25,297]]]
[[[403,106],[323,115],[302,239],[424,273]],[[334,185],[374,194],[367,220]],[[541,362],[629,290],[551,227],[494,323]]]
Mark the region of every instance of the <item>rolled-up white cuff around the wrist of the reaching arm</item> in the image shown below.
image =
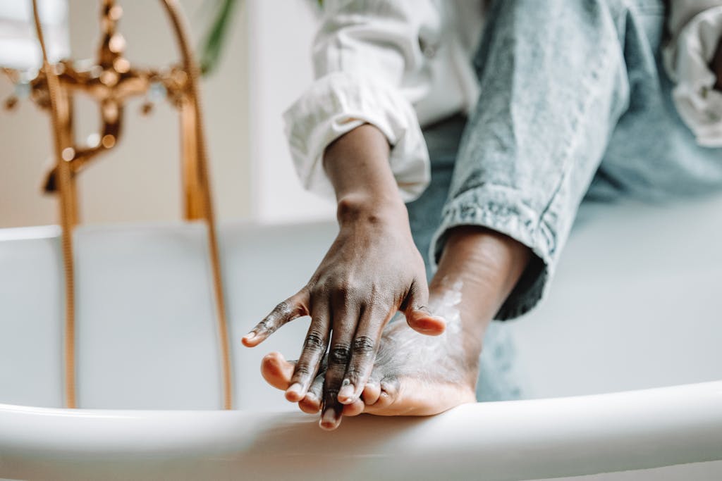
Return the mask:
[[[323,151],[354,128],[370,123],[391,145],[389,164],[405,202],[431,178],[429,154],[412,105],[398,89],[373,79],[335,72],[321,77],[285,113],[286,136],[303,186],[334,198],[323,170]]]

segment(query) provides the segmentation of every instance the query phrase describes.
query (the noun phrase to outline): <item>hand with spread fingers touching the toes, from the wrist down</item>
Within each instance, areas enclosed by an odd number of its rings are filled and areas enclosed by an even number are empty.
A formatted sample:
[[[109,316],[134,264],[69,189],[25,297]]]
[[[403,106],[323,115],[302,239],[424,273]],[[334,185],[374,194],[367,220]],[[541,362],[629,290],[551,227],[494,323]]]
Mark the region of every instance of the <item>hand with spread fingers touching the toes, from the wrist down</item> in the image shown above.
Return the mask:
[[[352,210],[352,209],[349,209]],[[438,335],[444,322],[427,310],[424,262],[401,215],[341,213],[338,237],[308,284],[283,301],[243,338],[261,343],[282,325],[310,314],[311,324],[286,398],[303,400],[329,345],[321,426],[335,428],[343,404],[357,400],[369,379],[381,332],[397,311],[414,330]],[[405,223],[405,225],[404,225]]]

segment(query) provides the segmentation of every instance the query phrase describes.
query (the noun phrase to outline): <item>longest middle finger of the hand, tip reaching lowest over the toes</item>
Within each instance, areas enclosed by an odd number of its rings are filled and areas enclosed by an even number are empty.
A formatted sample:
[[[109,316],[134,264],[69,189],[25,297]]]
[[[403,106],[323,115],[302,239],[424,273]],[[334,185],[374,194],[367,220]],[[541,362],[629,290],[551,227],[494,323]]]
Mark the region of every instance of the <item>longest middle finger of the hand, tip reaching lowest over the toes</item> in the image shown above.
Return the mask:
[[[339,305],[341,304],[341,305]],[[336,429],[341,423],[343,405],[338,400],[339,390],[351,356],[351,343],[358,321],[357,304],[345,300],[334,305],[334,330],[331,336],[326,383],[323,385],[323,412],[321,428]]]

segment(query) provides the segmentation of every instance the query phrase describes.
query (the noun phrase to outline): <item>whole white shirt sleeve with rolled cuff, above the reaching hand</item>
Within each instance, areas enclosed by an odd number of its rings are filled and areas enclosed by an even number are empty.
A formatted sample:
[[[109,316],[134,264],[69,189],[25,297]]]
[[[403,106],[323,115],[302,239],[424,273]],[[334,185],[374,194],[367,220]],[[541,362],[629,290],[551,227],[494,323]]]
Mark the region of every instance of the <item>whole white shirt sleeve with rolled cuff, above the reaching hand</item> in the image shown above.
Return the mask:
[[[388,139],[391,170],[404,200],[428,185],[429,156],[412,104],[430,90],[425,44],[442,35],[440,3],[324,1],[313,45],[317,80],[284,113],[294,164],[307,189],[333,197],[323,151],[363,123]]]

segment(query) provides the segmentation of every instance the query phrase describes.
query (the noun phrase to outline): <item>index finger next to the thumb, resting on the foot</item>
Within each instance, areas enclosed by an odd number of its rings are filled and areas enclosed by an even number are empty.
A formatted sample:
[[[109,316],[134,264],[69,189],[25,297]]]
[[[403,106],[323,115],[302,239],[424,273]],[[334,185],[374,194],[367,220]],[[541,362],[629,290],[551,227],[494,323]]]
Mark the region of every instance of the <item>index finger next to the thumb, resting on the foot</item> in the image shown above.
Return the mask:
[[[380,309],[373,305],[364,310],[351,345],[351,358],[346,376],[339,391],[339,402],[342,404],[350,405],[360,397],[373,369],[381,330],[391,314],[388,309]]]

